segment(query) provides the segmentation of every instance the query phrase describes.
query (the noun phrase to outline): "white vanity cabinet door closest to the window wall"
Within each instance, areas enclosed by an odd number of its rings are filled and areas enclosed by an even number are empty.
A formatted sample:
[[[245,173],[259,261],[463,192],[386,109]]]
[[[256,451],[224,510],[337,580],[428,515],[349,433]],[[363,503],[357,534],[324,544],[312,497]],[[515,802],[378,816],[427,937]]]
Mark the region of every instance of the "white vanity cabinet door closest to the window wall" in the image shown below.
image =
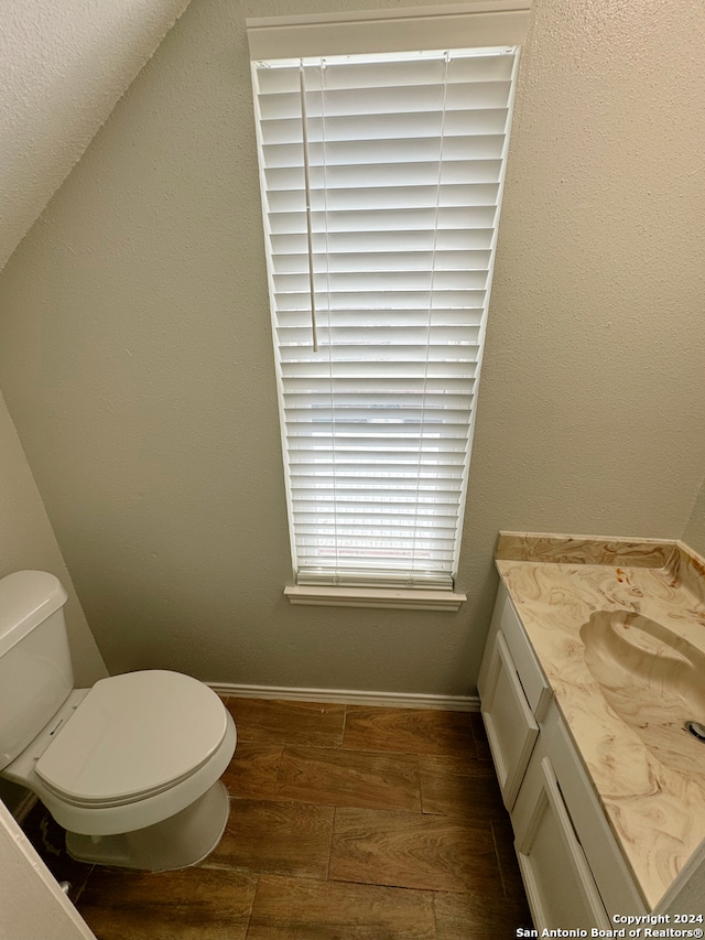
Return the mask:
[[[511,809],[539,725],[501,630],[492,645],[481,712],[502,799],[507,809]]]

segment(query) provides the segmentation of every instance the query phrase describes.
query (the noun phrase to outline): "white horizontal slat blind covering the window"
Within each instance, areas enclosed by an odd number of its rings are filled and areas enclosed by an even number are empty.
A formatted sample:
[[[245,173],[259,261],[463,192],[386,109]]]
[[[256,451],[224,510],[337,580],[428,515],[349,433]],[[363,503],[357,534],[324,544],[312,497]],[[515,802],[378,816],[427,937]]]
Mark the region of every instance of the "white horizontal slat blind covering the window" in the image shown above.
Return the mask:
[[[299,584],[453,587],[517,63],[253,63]]]

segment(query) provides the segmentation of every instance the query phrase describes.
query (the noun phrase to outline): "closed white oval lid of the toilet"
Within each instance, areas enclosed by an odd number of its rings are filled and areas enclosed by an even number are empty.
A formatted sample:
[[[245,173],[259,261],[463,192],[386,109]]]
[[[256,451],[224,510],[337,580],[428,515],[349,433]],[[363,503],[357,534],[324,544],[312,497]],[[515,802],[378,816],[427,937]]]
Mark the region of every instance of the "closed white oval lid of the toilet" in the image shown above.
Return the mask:
[[[221,744],[227,712],[181,672],[101,679],[36,763],[42,780],[77,803],[119,806],[189,777]]]

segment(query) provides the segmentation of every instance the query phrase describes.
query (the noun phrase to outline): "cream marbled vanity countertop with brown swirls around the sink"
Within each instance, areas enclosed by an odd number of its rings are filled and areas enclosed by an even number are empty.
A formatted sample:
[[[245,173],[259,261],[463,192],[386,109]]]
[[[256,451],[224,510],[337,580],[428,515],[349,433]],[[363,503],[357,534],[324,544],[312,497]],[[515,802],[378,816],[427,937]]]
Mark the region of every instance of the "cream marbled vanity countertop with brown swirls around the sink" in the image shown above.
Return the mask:
[[[705,653],[705,560],[674,541],[501,533],[496,563],[653,909],[705,840],[705,743],[682,728],[705,715],[675,716],[668,747],[652,747],[659,694],[622,720],[588,669],[581,627],[595,612],[627,611]]]

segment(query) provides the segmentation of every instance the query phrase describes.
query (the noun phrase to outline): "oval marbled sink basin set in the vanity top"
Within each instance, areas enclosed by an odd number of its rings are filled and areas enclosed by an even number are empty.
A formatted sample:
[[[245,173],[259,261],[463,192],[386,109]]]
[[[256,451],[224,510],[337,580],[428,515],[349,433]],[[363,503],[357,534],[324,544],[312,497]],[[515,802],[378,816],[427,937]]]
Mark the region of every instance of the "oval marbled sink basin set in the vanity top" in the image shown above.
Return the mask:
[[[612,711],[665,767],[705,776],[705,653],[663,624],[599,611],[581,628],[585,665]]]

